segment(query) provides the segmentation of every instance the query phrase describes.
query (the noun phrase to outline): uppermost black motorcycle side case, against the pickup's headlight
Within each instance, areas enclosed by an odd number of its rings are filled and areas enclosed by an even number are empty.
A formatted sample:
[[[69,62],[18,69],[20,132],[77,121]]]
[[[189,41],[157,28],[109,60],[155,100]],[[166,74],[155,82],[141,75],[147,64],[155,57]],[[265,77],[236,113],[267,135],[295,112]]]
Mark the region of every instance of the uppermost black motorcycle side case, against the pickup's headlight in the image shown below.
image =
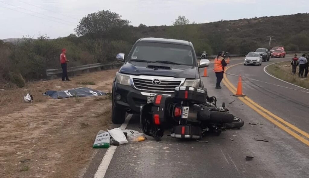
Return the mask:
[[[206,91],[195,87],[176,87],[175,98],[188,100],[194,103],[204,103],[206,101]]]

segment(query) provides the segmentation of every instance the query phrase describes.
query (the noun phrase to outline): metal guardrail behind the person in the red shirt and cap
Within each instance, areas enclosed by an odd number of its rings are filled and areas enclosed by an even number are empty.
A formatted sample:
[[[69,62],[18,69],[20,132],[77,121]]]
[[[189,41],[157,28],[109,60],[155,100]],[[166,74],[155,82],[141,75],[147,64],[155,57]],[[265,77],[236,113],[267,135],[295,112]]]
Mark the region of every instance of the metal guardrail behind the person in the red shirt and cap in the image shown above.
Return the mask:
[[[75,72],[82,71],[83,73],[89,73],[91,69],[95,69],[96,71],[101,70],[108,70],[108,69],[114,69],[117,67],[120,67],[123,63],[119,62],[113,62],[113,63],[95,63],[95,64],[87,64],[83,66],[77,66],[77,67],[68,67],[68,73],[73,73],[75,75]],[[62,74],[62,69],[46,69],[46,76],[49,79],[54,79],[54,77],[57,77],[57,75]]]

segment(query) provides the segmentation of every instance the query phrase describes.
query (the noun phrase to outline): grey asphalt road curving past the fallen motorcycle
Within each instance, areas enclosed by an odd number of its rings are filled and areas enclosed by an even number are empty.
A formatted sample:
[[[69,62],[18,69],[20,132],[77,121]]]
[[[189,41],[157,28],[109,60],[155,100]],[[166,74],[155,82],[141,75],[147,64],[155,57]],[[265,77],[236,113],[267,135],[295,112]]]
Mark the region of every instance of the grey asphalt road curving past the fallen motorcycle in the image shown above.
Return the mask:
[[[231,67],[228,73],[293,87],[264,73],[265,65],[278,60],[285,59],[271,59],[270,62],[263,62],[260,67],[236,65]],[[240,62],[242,60],[231,61],[230,65]],[[161,142],[147,137],[144,142],[118,146],[104,177],[309,176],[309,147],[275,126],[239,98],[233,97],[223,83],[222,89],[214,89],[215,75],[212,68],[208,67],[209,77],[202,79],[209,95],[216,96],[218,103],[235,100],[226,107],[232,114],[242,118],[245,125],[239,130],[227,130],[220,136],[205,136],[203,140],[209,143],[172,139],[166,133]],[[238,77],[227,77],[236,87]],[[243,79],[243,93],[287,122],[295,124],[303,131],[309,131],[309,94],[249,79]],[[133,115],[127,128],[139,130],[139,117]],[[263,138],[269,142],[256,141],[254,138]],[[98,151],[85,173],[85,178],[95,175],[105,152],[106,149]],[[246,161],[246,156],[254,158]]]

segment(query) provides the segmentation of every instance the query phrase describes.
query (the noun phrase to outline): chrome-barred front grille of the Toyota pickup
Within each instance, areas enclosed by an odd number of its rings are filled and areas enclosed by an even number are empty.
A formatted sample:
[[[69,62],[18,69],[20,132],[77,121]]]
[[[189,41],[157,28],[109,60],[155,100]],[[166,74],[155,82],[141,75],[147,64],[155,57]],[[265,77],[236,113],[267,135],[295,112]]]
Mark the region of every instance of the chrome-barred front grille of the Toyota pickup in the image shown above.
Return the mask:
[[[180,86],[181,81],[177,80],[161,80],[160,85],[154,85],[152,80],[149,79],[137,79],[133,78],[133,84],[135,88],[146,91],[165,91],[165,92],[173,92],[175,87]]]

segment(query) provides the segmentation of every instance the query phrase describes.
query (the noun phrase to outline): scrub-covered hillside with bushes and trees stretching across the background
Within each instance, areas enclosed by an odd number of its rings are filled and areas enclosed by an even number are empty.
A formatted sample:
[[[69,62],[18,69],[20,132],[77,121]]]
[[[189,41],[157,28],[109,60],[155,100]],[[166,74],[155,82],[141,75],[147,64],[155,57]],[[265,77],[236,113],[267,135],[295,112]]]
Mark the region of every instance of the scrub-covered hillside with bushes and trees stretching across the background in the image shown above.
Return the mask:
[[[79,27],[79,28],[78,28]],[[309,14],[283,15],[178,26],[133,27],[111,11],[88,14],[77,26],[77,35],[50,39],[0,40],[0,84],[42,79],[47,68],[59,68],[59,54],[67,49],[69,67],[115,60],[117,53],[128,54],[142,37],[184,39],[193,42],[195,52],[209,55],[218,51],[246,54],[259,47],[284,45],[286,51],[309,51]],[[269,46],[269,36],[273,36]],[[21,42],[23,41],[23,42]],[[13,43],[13,44],[12,44]],[[15,45],[14,45],[15,44]],[[35,65],[34,65],[35,64]],[[17,78],[17,79],[16,79]],[[16,80],[16,81],[15,81]]]

